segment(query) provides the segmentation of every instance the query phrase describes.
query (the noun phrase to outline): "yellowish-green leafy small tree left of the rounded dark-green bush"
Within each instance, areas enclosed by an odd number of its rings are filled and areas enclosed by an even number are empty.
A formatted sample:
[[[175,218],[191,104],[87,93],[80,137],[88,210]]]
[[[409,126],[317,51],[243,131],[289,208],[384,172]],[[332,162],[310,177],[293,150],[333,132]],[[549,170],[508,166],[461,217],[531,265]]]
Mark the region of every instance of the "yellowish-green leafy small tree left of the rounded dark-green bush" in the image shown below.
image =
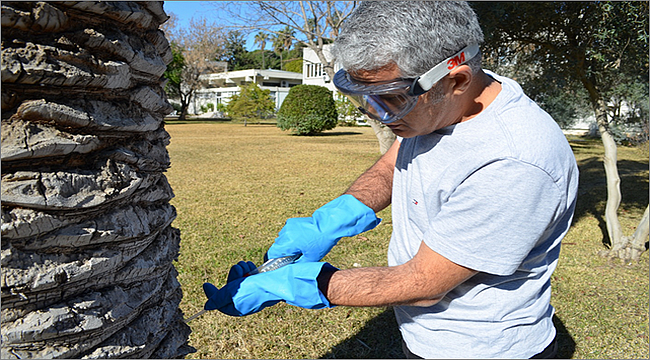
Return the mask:
[[[275,110],[275,103],[271,99],[271,90],[261,89],[251,82],[242,86],[239,94],[230,97],[226,110],[228,115],[243,119],[246,126],[249,119],[271,115]]]

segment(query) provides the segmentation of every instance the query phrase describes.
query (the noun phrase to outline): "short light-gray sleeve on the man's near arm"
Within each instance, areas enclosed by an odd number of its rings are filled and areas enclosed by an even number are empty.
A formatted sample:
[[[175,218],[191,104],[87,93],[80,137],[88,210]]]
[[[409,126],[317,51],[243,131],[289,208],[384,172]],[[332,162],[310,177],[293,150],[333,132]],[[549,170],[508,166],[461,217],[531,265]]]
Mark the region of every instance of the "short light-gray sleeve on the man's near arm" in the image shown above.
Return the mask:
[[[494,275],[514,273],[560,207],[560,191],[542,169],[516,159],[469,175],[431,218],[424,242],[456,264]]]

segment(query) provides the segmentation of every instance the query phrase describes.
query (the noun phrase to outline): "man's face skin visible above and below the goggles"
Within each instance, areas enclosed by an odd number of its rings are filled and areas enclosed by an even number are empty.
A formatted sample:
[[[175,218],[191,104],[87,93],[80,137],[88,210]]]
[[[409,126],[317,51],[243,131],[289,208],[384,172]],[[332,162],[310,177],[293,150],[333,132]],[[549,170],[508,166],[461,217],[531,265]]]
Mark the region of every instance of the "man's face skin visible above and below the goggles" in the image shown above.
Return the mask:
[[[390,64],[371,71],[351,71],[350,75],[357,81],[378,82],[397,79],[400,77],[400,71],[397,65]],[[444,80],[443,78],[431,90],[420,95],[417,105],[408,114],[386,126],[395,135],[410,138],[430,134],[455,123],[453,119],[449,119],[448,111],[445,111],[449,98],[443,90]]]

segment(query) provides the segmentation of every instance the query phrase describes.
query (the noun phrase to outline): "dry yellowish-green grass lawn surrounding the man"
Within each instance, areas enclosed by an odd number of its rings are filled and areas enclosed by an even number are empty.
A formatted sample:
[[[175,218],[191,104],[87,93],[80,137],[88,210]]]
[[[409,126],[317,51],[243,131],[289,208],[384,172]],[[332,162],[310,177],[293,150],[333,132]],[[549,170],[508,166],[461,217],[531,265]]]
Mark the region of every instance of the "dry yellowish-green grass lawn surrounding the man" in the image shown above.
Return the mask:
[[[298,137],[273,126],[168,124],[167,172],[181,230],[177,263],[186,317],[203,308],[204,282],[224,285],[239,260],[259,265],[287,218],[309,216],[378,158],[370,128]],[[561,355],[648,358],[648,253],[635,264],[597,255],[603,246],[605,175],[598,140],[572,139],[581,170],[572,229],[554,274]],[[631,234],[648,204],[648,151],[619,150],[621,222]],[[390,207],[375,229],[341,240],[324,259],[339,268],[385,266]],[[400,358],[390,308],[305,310],[278,304],[235,318],[209,312],[190,323],[191,358]]]

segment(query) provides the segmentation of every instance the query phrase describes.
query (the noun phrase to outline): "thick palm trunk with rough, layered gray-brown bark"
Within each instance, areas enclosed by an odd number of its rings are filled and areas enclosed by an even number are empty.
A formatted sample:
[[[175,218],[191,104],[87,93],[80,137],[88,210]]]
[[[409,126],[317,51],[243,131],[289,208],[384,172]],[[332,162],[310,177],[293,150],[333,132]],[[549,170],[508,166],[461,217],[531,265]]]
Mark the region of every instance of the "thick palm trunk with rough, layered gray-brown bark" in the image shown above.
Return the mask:
[[[162,2],[2,2],[1,358],[184,357]]]

